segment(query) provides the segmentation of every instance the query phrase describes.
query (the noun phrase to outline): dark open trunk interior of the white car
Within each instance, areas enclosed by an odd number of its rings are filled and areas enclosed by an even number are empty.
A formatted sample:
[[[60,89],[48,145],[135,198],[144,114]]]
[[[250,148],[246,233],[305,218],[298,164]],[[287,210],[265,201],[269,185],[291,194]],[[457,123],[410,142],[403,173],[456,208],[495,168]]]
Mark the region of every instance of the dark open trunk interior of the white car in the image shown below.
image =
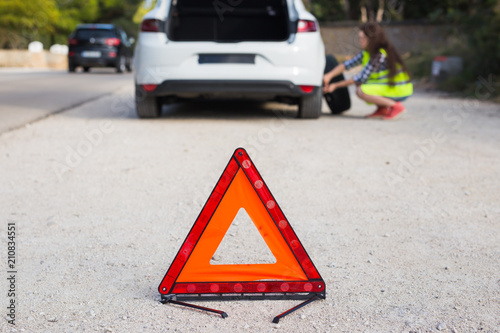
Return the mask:
[[[172,0],[167,35],[173,41],[284,41],[286,0]]]

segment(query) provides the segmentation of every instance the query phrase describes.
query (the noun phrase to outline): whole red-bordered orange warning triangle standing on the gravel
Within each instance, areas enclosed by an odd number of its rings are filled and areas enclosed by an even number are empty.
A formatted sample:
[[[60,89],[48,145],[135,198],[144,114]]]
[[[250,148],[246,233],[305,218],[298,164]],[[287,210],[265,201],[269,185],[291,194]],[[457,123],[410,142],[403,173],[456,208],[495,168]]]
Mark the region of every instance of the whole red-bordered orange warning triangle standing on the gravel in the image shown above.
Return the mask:
[[[210,264],[241,208],[257,227],[275,263]],[[162,297],[177,299],[276,293],[324,298],[326,286],[250,157],[238,148],[158,289]]]

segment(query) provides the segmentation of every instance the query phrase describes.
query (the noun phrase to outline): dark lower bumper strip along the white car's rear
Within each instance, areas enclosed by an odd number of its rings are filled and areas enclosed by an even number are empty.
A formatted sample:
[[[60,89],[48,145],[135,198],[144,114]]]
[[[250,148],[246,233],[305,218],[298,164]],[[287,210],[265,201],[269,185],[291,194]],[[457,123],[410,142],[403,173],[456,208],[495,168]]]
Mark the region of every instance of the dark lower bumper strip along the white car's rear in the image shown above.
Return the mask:
[[[307,89],[309,88],[309,90]],[[320,89],[307,86],[305,91],[291,81],[268,80],[167,80],[154,90],[136,85],[137,94],[181,98],[275,98],[301,97]]]

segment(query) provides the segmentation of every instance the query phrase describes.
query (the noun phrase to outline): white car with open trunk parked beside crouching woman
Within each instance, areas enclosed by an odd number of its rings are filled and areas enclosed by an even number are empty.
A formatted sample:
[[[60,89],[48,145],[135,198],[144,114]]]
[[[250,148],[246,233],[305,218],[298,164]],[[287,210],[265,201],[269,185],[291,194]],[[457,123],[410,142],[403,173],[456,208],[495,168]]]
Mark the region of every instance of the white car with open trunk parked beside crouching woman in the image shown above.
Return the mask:
[[[162,102],[250,98],[321,114],[325,52],[301,0],[162,0],[144,16],[135,50],[137,114]]]

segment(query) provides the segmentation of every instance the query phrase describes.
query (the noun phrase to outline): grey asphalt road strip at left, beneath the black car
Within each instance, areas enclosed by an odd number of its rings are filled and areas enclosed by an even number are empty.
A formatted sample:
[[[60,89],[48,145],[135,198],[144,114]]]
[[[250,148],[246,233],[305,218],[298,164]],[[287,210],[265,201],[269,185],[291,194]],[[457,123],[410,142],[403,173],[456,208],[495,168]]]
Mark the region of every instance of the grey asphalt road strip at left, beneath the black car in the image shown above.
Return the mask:
[[[133,84],[132,74],[0,69],[0,133]]]

